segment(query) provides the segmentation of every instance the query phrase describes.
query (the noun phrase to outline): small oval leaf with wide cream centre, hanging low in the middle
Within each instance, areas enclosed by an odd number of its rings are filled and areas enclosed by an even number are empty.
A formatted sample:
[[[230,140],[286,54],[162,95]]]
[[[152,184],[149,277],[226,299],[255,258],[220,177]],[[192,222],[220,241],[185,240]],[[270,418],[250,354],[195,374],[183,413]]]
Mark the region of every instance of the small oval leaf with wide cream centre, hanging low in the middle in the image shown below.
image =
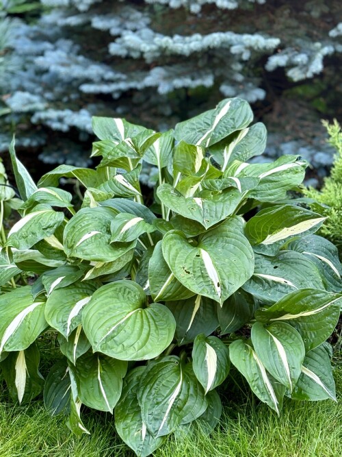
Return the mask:
[[[231,367],[228,347],[216,336],[196,336],[192,349],[192,366],[207,395],[228,376]]]

